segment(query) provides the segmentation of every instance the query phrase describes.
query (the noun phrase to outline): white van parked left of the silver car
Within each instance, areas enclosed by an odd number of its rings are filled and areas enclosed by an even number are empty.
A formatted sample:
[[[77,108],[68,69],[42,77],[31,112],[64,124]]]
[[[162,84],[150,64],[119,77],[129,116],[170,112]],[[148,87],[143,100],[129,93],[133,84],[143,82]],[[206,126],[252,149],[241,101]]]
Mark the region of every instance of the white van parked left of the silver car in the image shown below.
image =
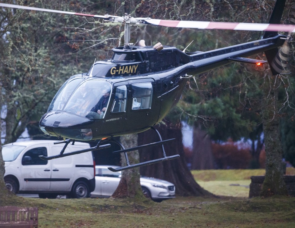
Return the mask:
[[[61,152],[64,143],[53,140],[29,140],[2,147],[5,162],[4,181],[14,193],[34,193],[40,198],[67,195],[73,198],[90,196],[95,188],[95,162],[92,151],[64,158],[42,160]],[[69,144],[64,153],[90,148],[89,143]]]

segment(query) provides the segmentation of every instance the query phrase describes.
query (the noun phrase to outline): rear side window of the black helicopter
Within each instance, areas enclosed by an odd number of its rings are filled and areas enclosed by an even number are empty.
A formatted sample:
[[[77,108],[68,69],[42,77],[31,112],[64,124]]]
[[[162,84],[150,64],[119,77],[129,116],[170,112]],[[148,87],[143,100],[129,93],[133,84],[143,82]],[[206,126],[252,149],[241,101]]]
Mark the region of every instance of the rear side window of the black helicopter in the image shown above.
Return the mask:
[[[153,87],[149,83],[136,83],[132,85],[132,110],[151,108]]]

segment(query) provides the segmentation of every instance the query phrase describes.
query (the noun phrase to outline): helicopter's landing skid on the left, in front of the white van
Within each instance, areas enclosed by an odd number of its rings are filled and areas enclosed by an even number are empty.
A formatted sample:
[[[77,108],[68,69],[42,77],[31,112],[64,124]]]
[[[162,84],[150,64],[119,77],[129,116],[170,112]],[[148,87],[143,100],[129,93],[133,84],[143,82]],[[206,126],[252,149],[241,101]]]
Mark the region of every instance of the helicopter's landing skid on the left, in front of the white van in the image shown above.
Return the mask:
[[[101,143],[101,140],[97,143],[96,146],[94,147],[90,147],[90,148],[87,148],[87,149],[83,149],[83,150],[76,150],[76,151],[73,151],[73,152],[69,152],[69,153],[66,153],[64,154],[65,152],[65,148],[69,145],[70,142],[73,141],[73,144],[75,143],[75,140],[74,139],[67,139],[65,141],[58,141],[58,142],[55,142],[54,144],[60,144],[60,143],[65,143],[65,146],[62,148],[61,150],[61,153],[60,154],[57,154],[57,155],[53,155],[53,156],[48,156],[48,157],[45,157],[43,155],[40,155],[39,158],[43,159],[43,160],[51,160],[51,159],[54,159],[54,158],[63,158],[63,157],[66,157],[66,156],[70,156],[70,155],[74,155],[74,154],[81,154],[81,153],[85,153],[85,152],[88,152],[88,151],[92,151],[92,150],[100,150],[100,149],[104,149],[104,148],[108,148],[111,146],[111,144],[105,144],[105,145],[99,145]]]

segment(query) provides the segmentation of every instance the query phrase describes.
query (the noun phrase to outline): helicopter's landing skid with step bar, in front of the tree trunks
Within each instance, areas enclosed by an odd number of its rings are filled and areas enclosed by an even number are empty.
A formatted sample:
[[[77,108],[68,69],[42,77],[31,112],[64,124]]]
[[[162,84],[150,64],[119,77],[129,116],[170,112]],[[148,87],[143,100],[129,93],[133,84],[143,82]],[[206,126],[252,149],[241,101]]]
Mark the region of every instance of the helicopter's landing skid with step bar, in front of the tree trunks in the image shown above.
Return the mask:
[[[163,162],[163,161],[168,161],[168,160],[171,160],[171,159],[179,158],[180,157],[179,154],[176,154],[176,155],[172,155],[172,156],[168,156],[167,157],[166,156],[166,153],[165,153],[165,150],[164,150],[163,144],[164,143],[167,143],[167,142],[170,142],[171,140],[174,140],[174,139],[162,140],[160,133],[154,127],[151,127],[151,129],[154,130],[158,134],[159,139],[160,139],[159,142],[149,143],[149,144],[145,144],[145,145],[142,145],[142,146],[136,146],[136,147],[133,147],[133,148],[130,148],[130,149],[125,149],[124,146],[120,142],[118,142],[116,140],[112,140],[113,142],[115,142],[118,145],[120,145],[121,148],[122,148],[122,150],[117,150],[117,151],[114,151],[113,153],[124,153],[125,159],[126,159],[126,164],[127,165],[126,166],[123,166],[123,167],[119,167],[119,168],[108,167],[108,169],[111,170],[112,172],[118,172],[118,171],[122,171],[122,170],[126,170],[126,169],[132,169],[132,168],[135,168],[135,167],[140,167],[140,166],[144,166],[144,165],[151,165],[151,164],[154,164],[154,163],[158,163],[158,162]],[[154,160],[150,160],[150,161],[146,161],[146,162],[140,162],[140,163],[137,163],[137,164],[130,165],[127,152],[134,151],[134,150],[137,150],[137,149],[140,149],[140,148],[146,148],[146,147],[156,146],[156,145],[159,145],[159,144],[162,145],[163,158],[158,158],[158,159],[154,159]]]

